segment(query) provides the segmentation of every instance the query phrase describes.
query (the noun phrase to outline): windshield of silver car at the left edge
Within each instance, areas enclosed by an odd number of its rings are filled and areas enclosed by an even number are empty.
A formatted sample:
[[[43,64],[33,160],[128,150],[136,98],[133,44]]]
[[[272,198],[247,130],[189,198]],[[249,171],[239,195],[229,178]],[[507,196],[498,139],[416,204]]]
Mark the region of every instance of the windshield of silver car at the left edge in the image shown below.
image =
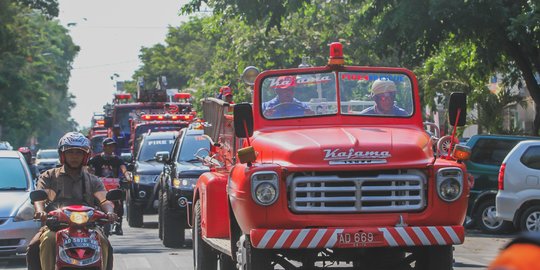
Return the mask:
[[[0,158],[0,190],[26,190],[25,169],[18,158]]]

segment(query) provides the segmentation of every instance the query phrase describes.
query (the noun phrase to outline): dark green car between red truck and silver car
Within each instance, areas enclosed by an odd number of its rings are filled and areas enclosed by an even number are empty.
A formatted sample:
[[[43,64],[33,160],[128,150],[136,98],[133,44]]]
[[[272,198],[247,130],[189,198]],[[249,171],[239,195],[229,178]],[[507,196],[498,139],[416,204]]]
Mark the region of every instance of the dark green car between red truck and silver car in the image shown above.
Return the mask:
[[[497,178],[501,163],[523,140],[538,140],[538,137],[508,135],[474,135],[467,141],[471,148],[471,158],[465,162],[467,171],[474,177],[474,186],[469,195],[467,222],[470,228],[476,225],[486,233],[504,233],[512,228],[512,223],[495,215]]]

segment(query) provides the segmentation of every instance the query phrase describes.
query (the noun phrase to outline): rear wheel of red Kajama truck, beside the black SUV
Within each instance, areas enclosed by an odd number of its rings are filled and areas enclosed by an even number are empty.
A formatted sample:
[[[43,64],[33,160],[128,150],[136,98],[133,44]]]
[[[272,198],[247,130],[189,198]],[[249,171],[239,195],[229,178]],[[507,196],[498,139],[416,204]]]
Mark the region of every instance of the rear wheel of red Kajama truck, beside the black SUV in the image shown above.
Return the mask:
[[[195,270],[217,269],[217,254],[202,240],[201,232],[201,203],[195,203],[195,224],[192,229],[193,237],[193,266]]]

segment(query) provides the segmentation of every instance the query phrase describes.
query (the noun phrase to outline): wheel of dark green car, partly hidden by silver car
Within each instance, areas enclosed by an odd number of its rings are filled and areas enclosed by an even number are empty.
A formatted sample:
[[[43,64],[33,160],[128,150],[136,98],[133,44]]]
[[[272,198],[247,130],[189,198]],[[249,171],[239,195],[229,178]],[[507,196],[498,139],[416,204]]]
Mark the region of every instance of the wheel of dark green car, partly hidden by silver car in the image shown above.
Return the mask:
[[[495,215],[495,200],[482,202],[475,213],[475,223],[485,233],[501,234],[512,227],[512,222],[504,221]]]

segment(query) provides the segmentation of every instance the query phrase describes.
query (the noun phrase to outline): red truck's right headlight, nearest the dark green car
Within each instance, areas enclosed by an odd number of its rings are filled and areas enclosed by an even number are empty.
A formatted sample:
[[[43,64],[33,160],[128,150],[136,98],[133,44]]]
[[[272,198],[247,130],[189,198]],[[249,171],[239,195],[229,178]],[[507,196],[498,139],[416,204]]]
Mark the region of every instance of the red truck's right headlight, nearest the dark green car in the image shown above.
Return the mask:
[[[437,193],[446,202],[457,200],[463,192],[463,172],[459,168],[442,168],[437,172]]]

